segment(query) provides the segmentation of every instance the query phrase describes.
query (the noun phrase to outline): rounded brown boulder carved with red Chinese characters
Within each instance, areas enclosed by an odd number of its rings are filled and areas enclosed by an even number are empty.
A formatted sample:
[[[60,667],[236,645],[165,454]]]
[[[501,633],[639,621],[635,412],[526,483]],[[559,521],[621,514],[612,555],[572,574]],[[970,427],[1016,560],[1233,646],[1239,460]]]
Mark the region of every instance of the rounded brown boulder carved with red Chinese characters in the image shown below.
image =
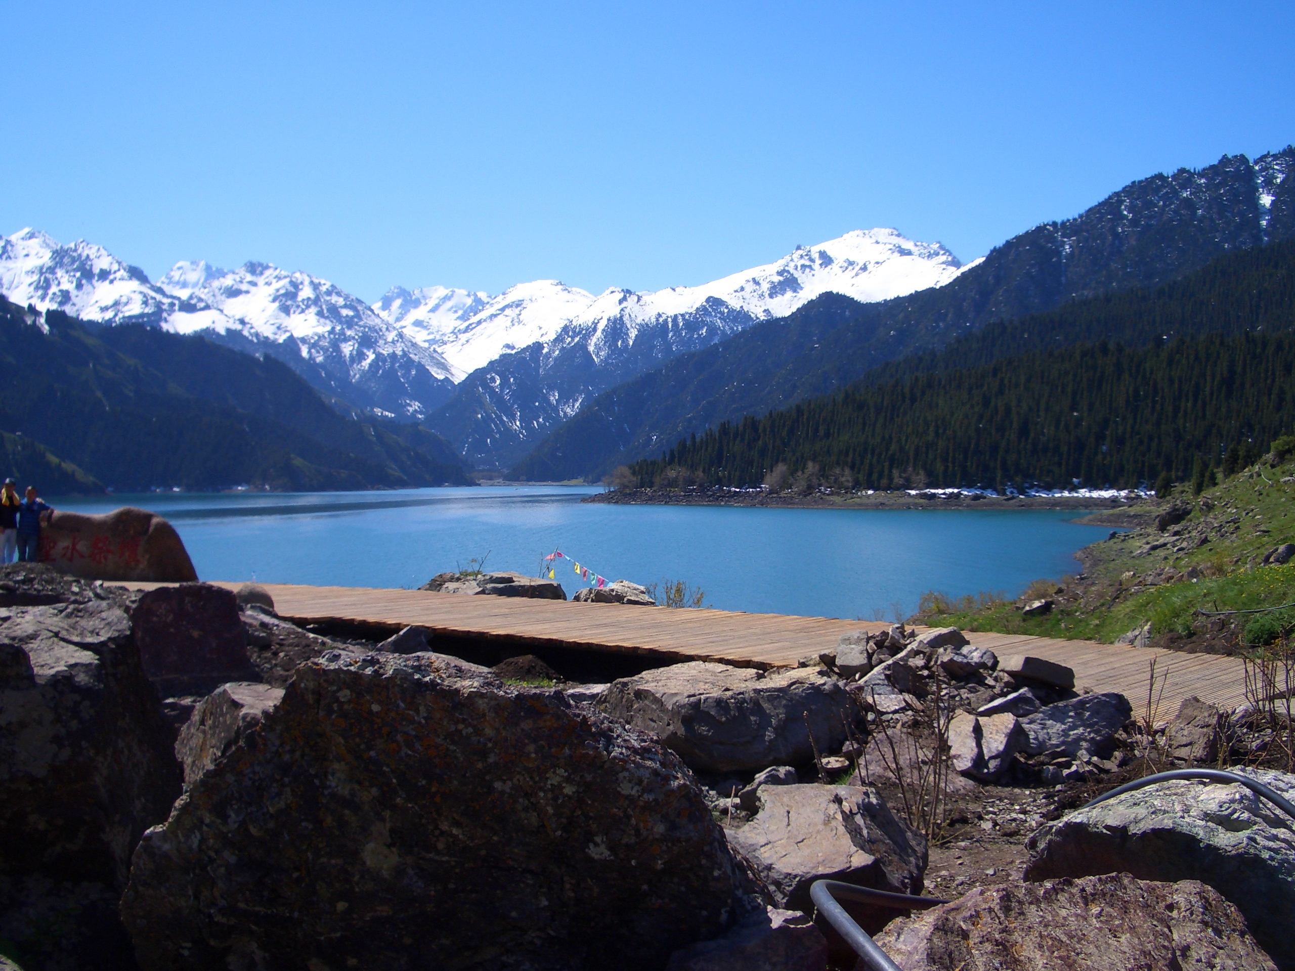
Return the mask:
[[[93,580],[198,579],[175,527],[133,506],[102,515],[56,509],[40,531],[40,559],[65,574]]]

